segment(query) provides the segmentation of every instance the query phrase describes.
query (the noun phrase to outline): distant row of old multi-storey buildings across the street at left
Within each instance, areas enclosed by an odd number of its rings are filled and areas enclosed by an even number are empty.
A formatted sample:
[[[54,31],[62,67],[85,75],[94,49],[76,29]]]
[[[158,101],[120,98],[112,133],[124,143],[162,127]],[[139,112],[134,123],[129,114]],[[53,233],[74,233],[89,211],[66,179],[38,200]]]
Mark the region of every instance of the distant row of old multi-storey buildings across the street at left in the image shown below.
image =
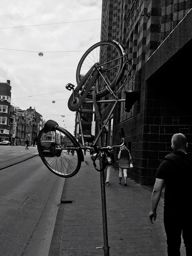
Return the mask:
[[[21,110],[11,105],[10,80],[0,83],[0,141],[23,146],[28,139],[30,146],[35,146],[43,124],[42,115],[35,108]]]

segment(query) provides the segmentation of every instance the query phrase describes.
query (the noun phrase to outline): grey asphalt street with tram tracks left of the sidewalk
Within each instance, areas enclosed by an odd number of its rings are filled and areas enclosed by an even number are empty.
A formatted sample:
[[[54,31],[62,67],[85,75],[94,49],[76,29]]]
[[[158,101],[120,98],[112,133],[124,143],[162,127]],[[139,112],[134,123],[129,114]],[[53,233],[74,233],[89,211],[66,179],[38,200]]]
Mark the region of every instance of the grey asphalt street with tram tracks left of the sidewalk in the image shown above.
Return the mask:
[[[49,254],[65,179],[31,148],[0,146],[0,256]]]

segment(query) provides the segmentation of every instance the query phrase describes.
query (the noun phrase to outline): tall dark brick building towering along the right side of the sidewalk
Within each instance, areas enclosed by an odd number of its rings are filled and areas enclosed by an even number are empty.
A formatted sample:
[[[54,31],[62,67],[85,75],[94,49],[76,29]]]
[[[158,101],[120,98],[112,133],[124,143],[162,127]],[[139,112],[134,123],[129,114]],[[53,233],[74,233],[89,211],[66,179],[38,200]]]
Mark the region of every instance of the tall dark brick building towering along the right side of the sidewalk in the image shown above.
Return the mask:
[[[172,151],[174,133],[185,134],[192,152],[187,64],[192,46],[191,8],[190,0],[103,0],[101,40],[122,41],[134,63],[121,97],[125,90],[141,95],[129,113],[124,103],[114,111],[113,144],[123,127],[134,163],[128,176],[140,184],[154,184],[159,164]],[[109,108],[103,110],[103,119]]]

